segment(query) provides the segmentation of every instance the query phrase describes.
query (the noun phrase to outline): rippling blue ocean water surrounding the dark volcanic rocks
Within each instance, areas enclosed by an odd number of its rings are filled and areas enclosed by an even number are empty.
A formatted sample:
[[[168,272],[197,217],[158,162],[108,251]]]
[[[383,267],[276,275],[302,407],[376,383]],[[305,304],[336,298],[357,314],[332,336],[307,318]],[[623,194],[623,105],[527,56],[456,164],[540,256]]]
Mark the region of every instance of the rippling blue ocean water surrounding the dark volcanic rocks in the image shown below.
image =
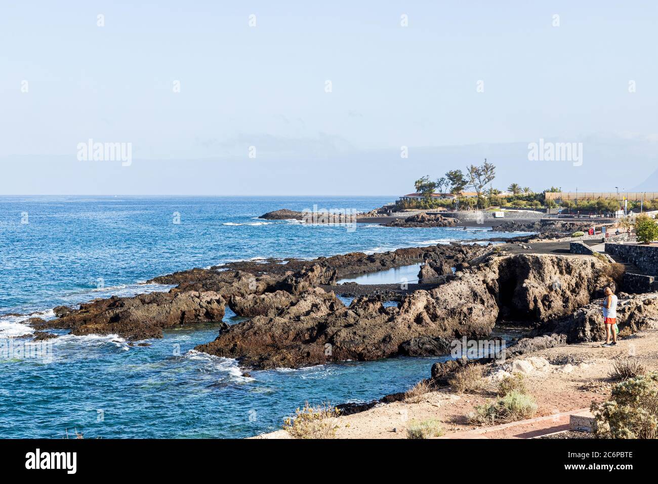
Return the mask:
[[[151,346],[116,335],[41,345],[24,316],[112,294],[168,290],[157,275],[254,257],[383,252],[509,236],[482,229],[308,226],[257,217],[279,208],[367,211],[394,197],[0,197],[0,437],[249,437],[280,428],[305,401],[364,402],[428,377],[438,358],[243,371],[193,350],[216,324],[166,331]],[[417,272],[417,271],[416,271]],[[403,273],[403,272],[401,272]],[[400,273],[400,274],[401,274]],[[411,273],[410,273],[411,274]],[[227,308],[225,321],[241,319]]]

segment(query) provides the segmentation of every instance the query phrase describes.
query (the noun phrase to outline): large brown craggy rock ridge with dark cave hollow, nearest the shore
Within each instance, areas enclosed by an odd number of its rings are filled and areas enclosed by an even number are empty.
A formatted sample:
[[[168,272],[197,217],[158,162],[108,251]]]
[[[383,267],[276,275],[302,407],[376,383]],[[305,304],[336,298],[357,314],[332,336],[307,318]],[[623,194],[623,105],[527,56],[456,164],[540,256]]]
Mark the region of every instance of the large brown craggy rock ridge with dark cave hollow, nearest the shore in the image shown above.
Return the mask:
[[[500,319],[550,324],[614,284],[608,265],[594,257],[492,252],[434,290],[404,296],[397,307],[368,296],[344,306],[332,293],[305,290],[290,306],[226,327],[197,350],[259,369],[439,355],[455,338],[490,335]]]

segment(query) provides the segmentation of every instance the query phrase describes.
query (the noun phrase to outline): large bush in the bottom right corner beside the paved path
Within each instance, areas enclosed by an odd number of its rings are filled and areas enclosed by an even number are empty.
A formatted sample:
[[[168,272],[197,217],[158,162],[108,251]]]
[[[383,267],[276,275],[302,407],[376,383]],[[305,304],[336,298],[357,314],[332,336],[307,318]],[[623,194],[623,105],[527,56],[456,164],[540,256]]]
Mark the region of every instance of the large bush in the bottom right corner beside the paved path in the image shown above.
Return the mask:
[[[617,383],[611,399],[592,404],[596,436],[603,439],[658,438],[658,372]]]

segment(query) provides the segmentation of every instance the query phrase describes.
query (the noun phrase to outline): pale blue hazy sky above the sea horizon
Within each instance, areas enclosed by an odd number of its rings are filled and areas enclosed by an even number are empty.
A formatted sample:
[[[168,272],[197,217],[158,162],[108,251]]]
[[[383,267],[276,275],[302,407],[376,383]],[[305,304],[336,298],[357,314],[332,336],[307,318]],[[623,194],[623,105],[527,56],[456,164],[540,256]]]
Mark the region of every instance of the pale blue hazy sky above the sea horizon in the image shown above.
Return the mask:
[[[3,3],[0,195],[658,191],[658,3],[136,4]]]

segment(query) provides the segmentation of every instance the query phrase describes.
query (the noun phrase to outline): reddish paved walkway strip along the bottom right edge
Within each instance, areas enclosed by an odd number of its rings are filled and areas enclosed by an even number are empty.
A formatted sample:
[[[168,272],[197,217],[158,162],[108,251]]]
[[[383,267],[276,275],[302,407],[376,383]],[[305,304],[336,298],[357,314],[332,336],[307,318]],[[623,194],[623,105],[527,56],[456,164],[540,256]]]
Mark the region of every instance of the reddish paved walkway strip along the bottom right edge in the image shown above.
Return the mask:
[[[467,430],[438,439],[534,439],[543,435],[569,430],[570,416],[592,417],[589,408],[571,410],[560,414],[535,417],[527,420]]]

